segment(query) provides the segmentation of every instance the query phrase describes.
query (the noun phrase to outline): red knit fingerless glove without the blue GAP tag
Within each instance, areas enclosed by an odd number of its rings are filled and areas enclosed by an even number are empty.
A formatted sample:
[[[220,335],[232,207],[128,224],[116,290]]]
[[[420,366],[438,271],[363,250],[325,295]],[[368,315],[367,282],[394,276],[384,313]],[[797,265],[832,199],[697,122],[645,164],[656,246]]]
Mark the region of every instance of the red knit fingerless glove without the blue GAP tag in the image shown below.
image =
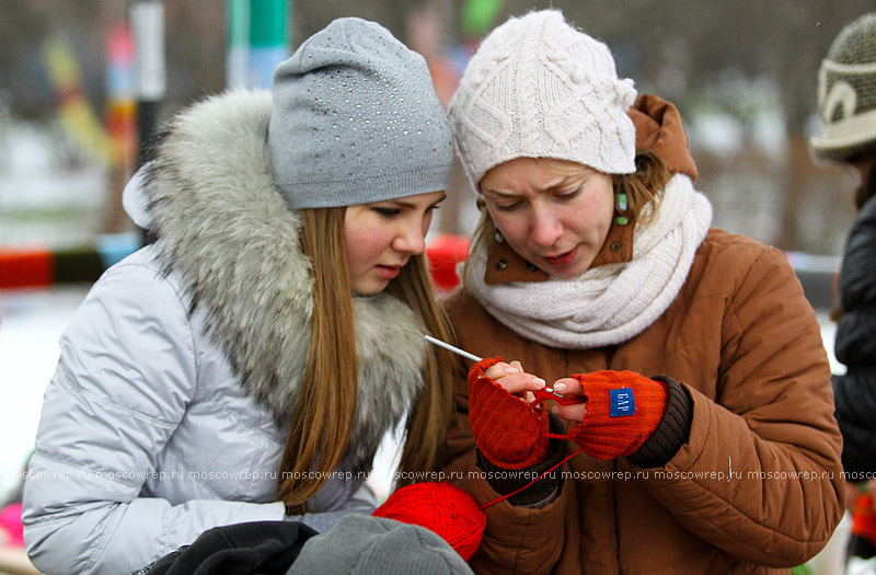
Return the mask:
[[[549,422],[544,407],[533,407],[508,393],[484,371],[502,361],[482,359],[469,371],[469,421],[481,452],[505,469],[531,468],[548,457]]]

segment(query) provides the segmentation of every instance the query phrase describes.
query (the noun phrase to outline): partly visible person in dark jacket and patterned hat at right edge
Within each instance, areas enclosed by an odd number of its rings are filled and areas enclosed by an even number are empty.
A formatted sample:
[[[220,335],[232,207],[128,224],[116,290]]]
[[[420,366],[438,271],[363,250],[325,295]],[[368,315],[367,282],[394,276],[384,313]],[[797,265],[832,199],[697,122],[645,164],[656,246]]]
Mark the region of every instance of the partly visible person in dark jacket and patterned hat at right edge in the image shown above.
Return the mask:
[[[822,160],[860,175],[855,218],[845,242],[837,294],[835,354],[845,365],[833,376],[837,421],[849,475],[852,556],[876,555],[876,12],[846,24],[818,74],[823,131],[810,140]]]

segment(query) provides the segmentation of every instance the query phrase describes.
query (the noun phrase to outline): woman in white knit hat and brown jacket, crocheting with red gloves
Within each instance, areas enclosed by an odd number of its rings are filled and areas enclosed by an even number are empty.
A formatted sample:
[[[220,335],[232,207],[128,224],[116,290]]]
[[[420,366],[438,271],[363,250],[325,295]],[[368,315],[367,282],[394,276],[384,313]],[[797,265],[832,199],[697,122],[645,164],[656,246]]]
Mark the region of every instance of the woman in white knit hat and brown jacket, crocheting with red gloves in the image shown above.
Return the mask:
[[[449,112],[483,218],[447,309],[487,359],[458,380],[447,467],[482,505],[510,494],[473,570],[818,552],[844,485],[819,326],[782,252],[711,228],[675,107],[548,10],[484,39]]]

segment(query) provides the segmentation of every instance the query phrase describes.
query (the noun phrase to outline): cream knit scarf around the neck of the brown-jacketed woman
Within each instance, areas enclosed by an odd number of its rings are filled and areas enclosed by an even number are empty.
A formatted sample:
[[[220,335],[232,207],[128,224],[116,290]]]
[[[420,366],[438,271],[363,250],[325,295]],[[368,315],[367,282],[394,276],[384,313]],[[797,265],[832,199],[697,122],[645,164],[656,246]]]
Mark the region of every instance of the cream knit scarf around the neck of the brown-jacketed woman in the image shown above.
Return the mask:
[[[583,349],[625,342],[659,318],[678,295],[712,223],[712,205],[685,175],[673,176],[633,233],[633,258],[574,279],[487,286],[486,246],[472,253],[466,289],[491,315],[530,340]]]

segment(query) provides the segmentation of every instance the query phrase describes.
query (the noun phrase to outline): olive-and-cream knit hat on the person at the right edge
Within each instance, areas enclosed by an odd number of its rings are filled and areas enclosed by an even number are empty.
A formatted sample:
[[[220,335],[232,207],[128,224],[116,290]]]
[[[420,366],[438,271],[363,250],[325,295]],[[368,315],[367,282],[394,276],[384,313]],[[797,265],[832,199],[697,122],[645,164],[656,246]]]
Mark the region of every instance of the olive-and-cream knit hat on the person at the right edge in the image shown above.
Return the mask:
[[[825,131],[809,140],[816,156],[844,161],[876,149],[876,12],[833,39],[818,74],[818,115]]]

